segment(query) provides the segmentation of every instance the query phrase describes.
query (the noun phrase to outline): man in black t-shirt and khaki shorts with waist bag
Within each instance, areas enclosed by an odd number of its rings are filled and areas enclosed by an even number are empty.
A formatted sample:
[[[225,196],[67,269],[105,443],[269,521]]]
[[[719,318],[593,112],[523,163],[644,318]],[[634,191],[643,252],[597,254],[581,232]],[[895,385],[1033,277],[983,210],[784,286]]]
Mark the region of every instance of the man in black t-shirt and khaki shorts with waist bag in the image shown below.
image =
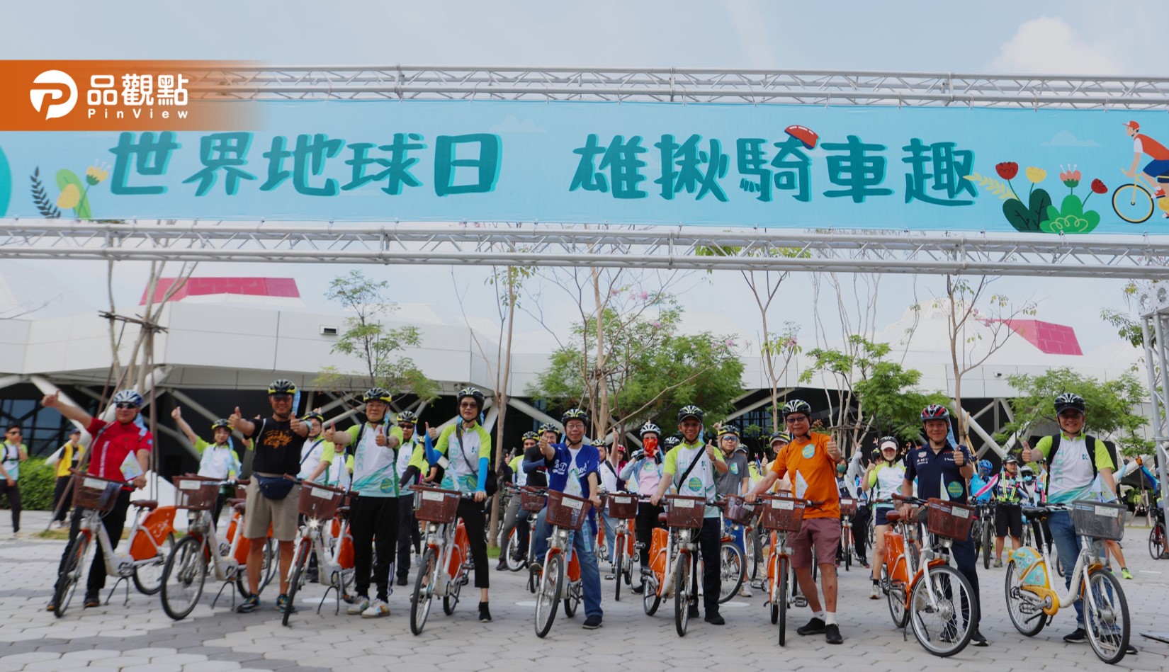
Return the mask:
[[[236,407],[228,418],[233,429],[253,439],[251,449],[256,451],[251,460],[251,483],[248,485],[248,515],[243,524],[243,536],[251,542],[248,549],[250,595],[236,608],[241,614],[260,608],[260,575],[269,525],[281,549],[281,595],[276,598],[276,609],[296,610],[288,601],[288,576],[289,566],[292,564],[292,541],[297,533],[299,486],[284,479],[284,476],[296,476],[300,471],[300,448],[309,436],[309,423],[300,422],[292,415],[295,394],[296,385],[279,379],[268,386],[268,400],[272,404],[271,417],[254,422],[243,420]]]

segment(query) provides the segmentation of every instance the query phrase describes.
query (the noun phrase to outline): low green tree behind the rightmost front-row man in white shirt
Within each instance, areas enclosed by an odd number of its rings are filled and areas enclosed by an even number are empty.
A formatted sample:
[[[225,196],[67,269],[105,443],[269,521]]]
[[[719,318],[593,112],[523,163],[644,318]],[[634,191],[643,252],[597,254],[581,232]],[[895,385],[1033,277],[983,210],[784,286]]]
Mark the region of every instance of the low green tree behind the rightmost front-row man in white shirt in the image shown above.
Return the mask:
[[[1084,397],[1086,427],[1093,436],[1116,442],[1125,455],[1139,455],[1153,449],[1153,443],[1137,434],[1149,421],[1143,415],[1134,414],[1133,408],[1144,402],[1148,394],[1132,373],[1100,381],[1061,367],[1040,375],[1012,375],[1007,380],[1019,392],[1019,396],[1010,400],[1015,420],[1004,425],[1005,431],[1001,437],[996,436],[996,441],[1012,435],[1025,437],[1030,428],[1040,421],[1056,422],[1053,400],[1065,392],[1073,392]]]

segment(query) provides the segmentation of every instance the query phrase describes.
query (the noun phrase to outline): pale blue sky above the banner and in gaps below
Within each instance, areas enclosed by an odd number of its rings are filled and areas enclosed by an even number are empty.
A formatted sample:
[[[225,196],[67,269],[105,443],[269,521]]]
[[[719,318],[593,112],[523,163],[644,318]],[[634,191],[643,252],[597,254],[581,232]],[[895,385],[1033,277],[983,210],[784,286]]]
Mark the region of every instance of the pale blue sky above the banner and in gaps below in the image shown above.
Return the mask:
[[[703,67],[948,71],[970,74],[1162,74],[1157,9],[1130,1],[836,2],[671,0],[629,2],[394,2],[205,0],[199,4],[118,1],[21,2],[5,9],[0,58],[243,58],[274,65],[530,65]],[[11,262],[0,262],[11,263]],[[79,293],[105,305],[105,265],[22,262],[76,278]],[[323,303],[328,278],[344,266],[201,264],[201,276],[291,276],[309,303]],[[485,273],[475,269],[375,266],[402,303],[455,304],[493,312]],[[119,264],[116,293],[137,304],[141,264]],[[1102,307],[1122,307],[1121,280],[1029,279],[999,283],[1017,302],[1038,303],[1038,319],[1074,325],[1085,352],[1118,340],[1100,323]],[[683,303],[715,331],[752,334],[754,300],[738,272],[696,275]],[[887,276],[878,328],[906,306],[941,292],[941,278]],[[545,292],[552,297],[553,290]],[[776,312],[805,314],[810,278],[794,275]],[[1068,302],[1074,297],[1074,302]],[[552,302],[549,302],[552,305]],[[824,304],[824,307],[826,304]],[[1068,309],[1072,309],[1071,311]],[[560,312],[555,312],[555,311]],[[570,319],[553,305],[554,320]],[[458,309],[448,311],[458,316]],[[800,321],[801,318],[791,318]],[[832,320],[826,320],[831,331]],[[811,325],[805,325],[808,330]],[[732,328],[733,327],[733,328]],[[526,320],[520,331],[539,331]],[[808,332],[804,332],[805,334]],[[810,334],[808,334],[810,335]],[[838,333],[828,334],[829,338]]]

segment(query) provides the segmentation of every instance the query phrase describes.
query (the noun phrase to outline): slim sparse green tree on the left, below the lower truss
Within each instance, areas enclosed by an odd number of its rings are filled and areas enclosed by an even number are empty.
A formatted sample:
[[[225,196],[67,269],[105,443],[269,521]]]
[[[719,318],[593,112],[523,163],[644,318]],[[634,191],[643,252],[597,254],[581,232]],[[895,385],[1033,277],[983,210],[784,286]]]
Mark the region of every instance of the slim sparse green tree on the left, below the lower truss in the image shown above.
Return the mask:
[[[337,367],[324,367],[314,385],[351,390],[378,386],[394,394],[413,393],[427,401],[438,396],[438,383],[423,375],[414,360],[399,354],[407,347],[419,347],[419,328],[388,328],[381,321],[397,310],[397,304],[386,298],[388,286],[387,280],[374,282],[357,270],[328,284],[325,297],[341,304],[350,313],[332,352],[357,358],[361,370],[346,373]]]

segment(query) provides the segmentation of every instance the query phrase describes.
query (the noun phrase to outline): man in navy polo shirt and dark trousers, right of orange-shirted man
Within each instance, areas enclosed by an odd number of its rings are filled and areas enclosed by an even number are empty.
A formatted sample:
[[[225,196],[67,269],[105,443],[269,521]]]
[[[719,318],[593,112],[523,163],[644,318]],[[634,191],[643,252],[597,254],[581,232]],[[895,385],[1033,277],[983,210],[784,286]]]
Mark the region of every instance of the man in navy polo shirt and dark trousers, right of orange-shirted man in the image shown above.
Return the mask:
[[[921,423],[925,425],[927,442],[913,448],[905,456],[905,480],[901,482],[901,494],[913,494],[913,482],[918,482],[918,497],[921,499],[948,499],[959,504],[968,503],[966,482],[974,476],[974,457],[964,445],[956,448],[949,442],[949,411],[945,406],[932,403],[921,411]],[[907,507],[905,507],[907,510]],[[902,515],[908,511],[902,510]],[[950,547],[957,570],[970,582],[974,601],[978,607],[978,616],[974,621],[974,635],[970,643],[975,646],[988,646],[987,638],[978,631],[982,616],[982,600],[978,597],[977,555],[974,552],[974,540],[967,538],[954,540]]]

